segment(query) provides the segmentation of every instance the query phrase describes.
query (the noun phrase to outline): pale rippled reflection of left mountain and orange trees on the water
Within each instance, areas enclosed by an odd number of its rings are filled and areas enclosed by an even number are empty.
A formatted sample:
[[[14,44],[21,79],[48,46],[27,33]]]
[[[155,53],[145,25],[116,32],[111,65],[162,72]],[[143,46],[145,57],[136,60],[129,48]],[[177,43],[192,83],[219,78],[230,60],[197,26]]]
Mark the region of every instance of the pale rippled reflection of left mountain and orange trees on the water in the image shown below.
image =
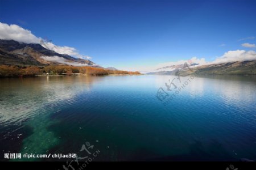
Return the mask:
[[[43,76],[39,78],[10,78],[1,80],[0,123],[19,123],[34,114],[44,112],[46,105],[55,107],[72,100],[81,92],[90,92],[96,76]],[[38,112],[39,111],[39,112]]]

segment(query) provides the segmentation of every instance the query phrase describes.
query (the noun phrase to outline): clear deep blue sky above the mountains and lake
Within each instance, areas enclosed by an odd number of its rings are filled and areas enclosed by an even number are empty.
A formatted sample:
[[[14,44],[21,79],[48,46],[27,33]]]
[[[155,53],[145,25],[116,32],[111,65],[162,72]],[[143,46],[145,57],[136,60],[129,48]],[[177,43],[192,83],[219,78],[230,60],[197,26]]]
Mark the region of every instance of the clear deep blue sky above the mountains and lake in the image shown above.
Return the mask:
[[[244,0],[0,0],[3,37],[22,28],[57,52],[132,71],[195,57],[255,57],[255,18],[256,1]]]

